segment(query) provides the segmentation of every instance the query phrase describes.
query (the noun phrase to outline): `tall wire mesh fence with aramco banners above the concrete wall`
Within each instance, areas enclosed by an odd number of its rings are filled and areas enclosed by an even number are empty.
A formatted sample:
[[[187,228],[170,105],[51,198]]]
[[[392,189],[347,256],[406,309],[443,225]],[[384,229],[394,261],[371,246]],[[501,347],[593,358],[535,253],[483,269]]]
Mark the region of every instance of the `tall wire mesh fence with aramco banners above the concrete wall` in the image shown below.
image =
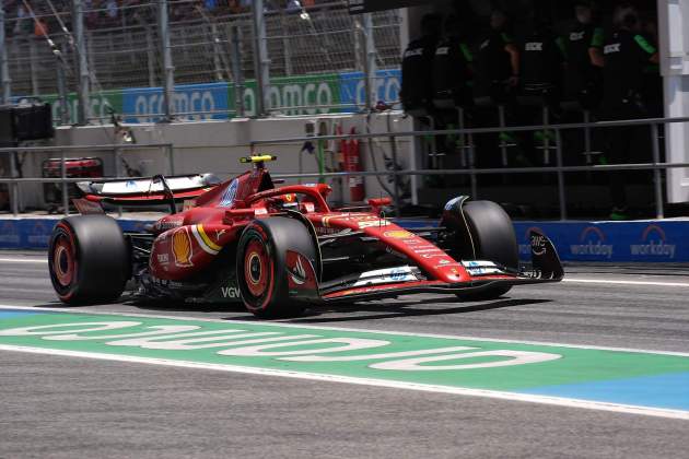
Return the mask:
[[[166,4],[166,27],[161,27],[161,3]],[[74,121],[82,91],[75,37],[81,17],[92,120],[110,113],[129,122],[159,119],[165,114],[170,81],[171,111],[177,119],[357,110],[367,103],[364,74],[372,71],[365,62],[366,33],[373,36],[377,70],[369,102],[397,101],[397,11],[374,13],[366,30],[361,16],[349,14],[346,1],[264,1],[265,36],[259,36],[268,50],[262,59],[269,60],[270,84],[261,86],[254,3],[4,0],[5,84],[14,97],[39,96],[56,106],[67,102],[69,121]],[[165,51],[171,57],[167,69]],[[61,83],[68,94],[60,99]],[[261,109],[266,92],[270,104]]]

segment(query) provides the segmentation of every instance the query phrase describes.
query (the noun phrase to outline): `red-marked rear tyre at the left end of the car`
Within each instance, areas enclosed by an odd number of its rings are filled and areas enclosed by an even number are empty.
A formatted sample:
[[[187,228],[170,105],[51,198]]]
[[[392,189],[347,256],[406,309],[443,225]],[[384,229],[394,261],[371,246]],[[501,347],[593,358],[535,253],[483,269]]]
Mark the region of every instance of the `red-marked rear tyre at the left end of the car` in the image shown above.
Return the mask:
[[[107,215],[61,220],[48,249],[50,281],[67,304],[117,299],[130,276],[129,247],[117,222]]]

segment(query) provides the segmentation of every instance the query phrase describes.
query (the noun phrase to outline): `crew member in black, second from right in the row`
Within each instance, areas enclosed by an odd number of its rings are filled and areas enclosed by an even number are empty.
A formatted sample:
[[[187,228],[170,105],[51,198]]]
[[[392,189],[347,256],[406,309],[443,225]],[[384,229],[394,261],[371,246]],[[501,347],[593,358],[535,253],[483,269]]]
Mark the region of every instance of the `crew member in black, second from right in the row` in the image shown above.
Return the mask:
[[[567,56],[567,95],[580,99],[586,108],[594,108],[600,99],[603,46],[605,33],[596,25],[594,4],[577,1],[576,22],[564,37]]]

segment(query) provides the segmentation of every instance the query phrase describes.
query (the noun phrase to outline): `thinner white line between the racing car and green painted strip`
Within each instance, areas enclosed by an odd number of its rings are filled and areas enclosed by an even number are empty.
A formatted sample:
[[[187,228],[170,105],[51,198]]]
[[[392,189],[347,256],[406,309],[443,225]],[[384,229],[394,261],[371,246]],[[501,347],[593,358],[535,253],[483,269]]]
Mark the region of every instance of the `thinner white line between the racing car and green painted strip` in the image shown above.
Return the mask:
[[[634,354],[657,354],[657,355],[673,355],[679,357],[689,357],[689,352],[675,352],[675,351],[657,351],[657,350],[645,350],[645,349],[630,349],[630,348],[609,348],[609,346],[598,346],[598,345],[586,345],[586,344],[567,344],[567,343],[553,343],[553,342],[544,342],[544,341],[524,341],[524,340],[503,340],[499,338],[481,338],[481,337],[463,337],[463,336],[454,336],[454,334],[436,334],[436,333],[417,333],[410,331],[388,331],[388,330],[373,330],[370,328],[347,328],[347,327],[327,327],[327,326],[314,326],[314,325],[300,325],[300,323],[287,323],[280,321],[262,321],[262,320],[224,320],[224,319],[212,319],[212,318],[199,318],[199,317],[190,317],[190,316],[162,316],[162,315],[152,315],[152,314],[138,314],[138,313],[122,313],[122,311],[100,311],[100,310],[75,310],[69,308],[58,308],[58,307],[34,307],[34,306],[12,306],[12,305],[0,305],[0,309],[22,309],[22,310],[33,310],[33,311],[54,311],[54,313],[67,313],[67,314],[91,314],[96,316],[117,316],[117,317],[140,317],[148,319],[172,319],[172,320],[196,320],[202,322],[214,322],[214,323],[225,323],[225,325],[243,325],[243,323],[254,323],[266,327],[288,327],[288,328],[297,328],[303,330],[335,330],[335,331],[347,331],[347,332],[364,332],[364,333],[377,333],[377,334],[397,334],[402,337],[416,337],[416,338],[441,338],[447,340],[464,340],[464,341],[488,341],[493,343],[507,343],[507,344],[528,344],[528,345],[544,345],[549,348],[569,348],[569,349],[586,349],[594,351],[611,351],[611,352],[629,352]]]

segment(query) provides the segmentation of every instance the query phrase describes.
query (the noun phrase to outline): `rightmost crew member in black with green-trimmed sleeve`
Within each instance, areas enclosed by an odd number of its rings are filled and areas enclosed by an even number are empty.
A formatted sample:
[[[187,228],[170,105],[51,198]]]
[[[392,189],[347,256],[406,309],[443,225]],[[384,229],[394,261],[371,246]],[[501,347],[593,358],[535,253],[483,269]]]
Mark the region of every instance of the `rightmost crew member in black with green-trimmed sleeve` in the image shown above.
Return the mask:
[[[644,69],[658,63],[658,52],[641,35],[641,22],[632,7],[618,7],[615,11],[615,31],[604,46],[603,117],[606,120],[643,118],[647,110],[642,98]],[[627,163],[634,141],[634,127],[608,128],[608,160]],[[627,220],[624,173],[612,173],[610,219]]]

